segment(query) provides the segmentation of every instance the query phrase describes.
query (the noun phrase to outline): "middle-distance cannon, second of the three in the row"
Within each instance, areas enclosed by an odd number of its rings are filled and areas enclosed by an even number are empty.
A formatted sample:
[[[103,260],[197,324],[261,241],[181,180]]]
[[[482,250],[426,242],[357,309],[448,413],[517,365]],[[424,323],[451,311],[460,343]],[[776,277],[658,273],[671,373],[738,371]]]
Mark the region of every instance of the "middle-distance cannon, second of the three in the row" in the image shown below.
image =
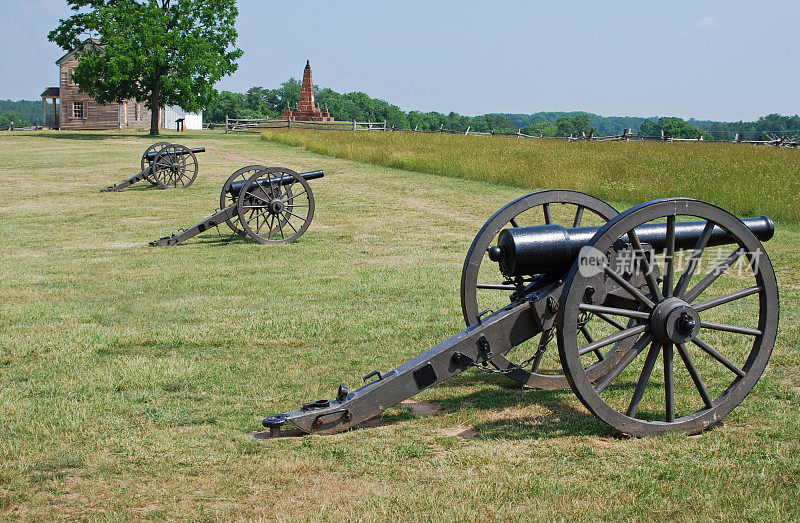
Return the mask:
[[[235,234],[259,243],[293,242],[306,232],[314,217],[314,194],[308,182],[323,176],[319,170],[297,173],[283,167],[242,167],[225,180],[220,210],[150,245],[177,245],[223,222]]]

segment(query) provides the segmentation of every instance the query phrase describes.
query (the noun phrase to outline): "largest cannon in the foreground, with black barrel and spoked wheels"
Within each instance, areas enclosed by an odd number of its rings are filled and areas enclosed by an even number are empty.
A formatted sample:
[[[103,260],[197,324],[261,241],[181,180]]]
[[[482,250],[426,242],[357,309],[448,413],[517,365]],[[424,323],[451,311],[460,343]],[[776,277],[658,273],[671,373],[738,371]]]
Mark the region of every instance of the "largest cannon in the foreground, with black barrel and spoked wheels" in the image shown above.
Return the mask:
[[[773,233],[768,217],[740,220],[692,199],[618,213],[576,191],[527,195],[490,218],[468,251],[464,330],[263,425],[272,437],[285,427],[341,432],[477,368],[569,387],[624,434],[701,432],[744,400],[769,361],[779,300],[762,242]],[[558,366],[546,363],[554,352]]]

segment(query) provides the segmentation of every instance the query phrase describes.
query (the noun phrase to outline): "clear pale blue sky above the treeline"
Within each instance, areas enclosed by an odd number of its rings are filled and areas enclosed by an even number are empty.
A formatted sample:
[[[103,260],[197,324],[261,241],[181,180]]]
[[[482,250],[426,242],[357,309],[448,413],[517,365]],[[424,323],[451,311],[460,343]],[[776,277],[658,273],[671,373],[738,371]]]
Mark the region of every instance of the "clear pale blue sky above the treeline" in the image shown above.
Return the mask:
[[[465,115],[754,120],[800,112],[800,0],[240,0],[239,69],[218,89],[301,78]],[[0,0],[0,99],[39,99],[64,0]]]

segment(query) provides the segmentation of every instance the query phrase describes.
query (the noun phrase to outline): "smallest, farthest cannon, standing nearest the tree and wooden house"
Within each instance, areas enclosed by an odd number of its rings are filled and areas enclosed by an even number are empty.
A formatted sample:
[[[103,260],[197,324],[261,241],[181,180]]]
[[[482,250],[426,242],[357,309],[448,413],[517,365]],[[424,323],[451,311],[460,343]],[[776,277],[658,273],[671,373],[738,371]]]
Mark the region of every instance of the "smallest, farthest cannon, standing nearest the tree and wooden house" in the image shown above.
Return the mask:
[[[101,189],[100,192],[120,191],[142,180],[147,180],[159,189],[184,189],[197,178],[199,167],[195,155],[205,150],[205,147],[189,149],[169,142],[154,143],[142,154],[142,170],[138,174]]]

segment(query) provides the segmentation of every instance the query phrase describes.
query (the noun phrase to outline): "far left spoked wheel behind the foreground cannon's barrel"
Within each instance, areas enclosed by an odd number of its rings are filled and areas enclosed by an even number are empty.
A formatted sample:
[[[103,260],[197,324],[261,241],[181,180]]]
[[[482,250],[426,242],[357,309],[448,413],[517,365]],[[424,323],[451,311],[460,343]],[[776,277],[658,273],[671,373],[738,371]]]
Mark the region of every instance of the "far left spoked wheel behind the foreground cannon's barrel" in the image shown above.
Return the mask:
[[[560,209],[557,210],[557,207]],[[585,211],[589,211],[588,213]],[[546,223],[561,223],[567,227],[579,227],[587,224],[591,214],[595,223],[605,223],[618,214],[617,210],[603,200],[579,191],[550,190],[531,193],[510,202],[497,211],[494,216],[481,227],[472,245],[467,251],[464,268],[461,271],[461,311],[464,321],[472,325],[482,311],[492,307],[493,300],[497,303],[494,293],[508,295],[514,291],[514,286],[503,282],[503,276],[497,269],[497,264],[489,261],[486,250],[497,241],[497,235],[506,227],[523,225],[541,225]],[[565,223],[568,222],[568,223]],[[484,263],[493,270],[485,268]],[[493,277],[494,280],[488,281]],[[480,281],[479,281],[480,280]],[[548,350],[550,356],[531,363],[530,368],[521,368],[518,363],[513,363],[506,356],[498,355],[492,358],[491,363],[499,370],[506,370],[507,375],[523,385],[541,389],[564,389],[569,386],[561,372],[554,373],[558,368],[556,351],[551,345],[551,332],[543,334],[543,351]],[[537,342],[538,348],[539,342]],[[536,368],[534,368],[534,366]],[[547,371],[544,369],[549,367]],[[542,369],[542,373],[535,372]],[[599,368],[597,369],[599,370]]]

